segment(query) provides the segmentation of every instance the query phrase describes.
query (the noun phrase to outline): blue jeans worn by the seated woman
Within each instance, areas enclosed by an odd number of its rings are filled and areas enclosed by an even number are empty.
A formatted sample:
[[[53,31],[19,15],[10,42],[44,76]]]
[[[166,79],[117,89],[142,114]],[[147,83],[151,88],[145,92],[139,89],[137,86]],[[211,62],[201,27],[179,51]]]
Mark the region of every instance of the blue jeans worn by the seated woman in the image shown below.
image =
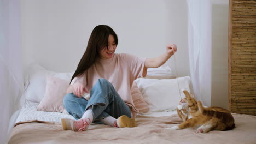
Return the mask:
[[[122,115],[131,117],[131,110],[125,104],[120,95],[115,91],[112,83],[106,79],[98,79],[90,92],[90,100],[84,97],[78,98],[73,93],[65,95],[63,106],[75,119],[83,116],[84,112],[91,106],[94,121],[112,116],[118,118]]]

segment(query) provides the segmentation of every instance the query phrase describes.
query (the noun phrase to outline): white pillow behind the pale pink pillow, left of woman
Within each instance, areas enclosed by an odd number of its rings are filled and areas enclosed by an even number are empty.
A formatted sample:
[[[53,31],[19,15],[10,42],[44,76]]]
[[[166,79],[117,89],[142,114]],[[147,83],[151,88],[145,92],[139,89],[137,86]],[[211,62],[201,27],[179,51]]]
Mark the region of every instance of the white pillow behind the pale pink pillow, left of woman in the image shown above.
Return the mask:
[[[46,90],[46,80],[48,76],[57,77],[66,81],[70,81],[73,73],[56,73],[47,70],[39,64],[32,64],[27,69],[27,81],[25,84],[24,96],[27,101],[40,103]]]

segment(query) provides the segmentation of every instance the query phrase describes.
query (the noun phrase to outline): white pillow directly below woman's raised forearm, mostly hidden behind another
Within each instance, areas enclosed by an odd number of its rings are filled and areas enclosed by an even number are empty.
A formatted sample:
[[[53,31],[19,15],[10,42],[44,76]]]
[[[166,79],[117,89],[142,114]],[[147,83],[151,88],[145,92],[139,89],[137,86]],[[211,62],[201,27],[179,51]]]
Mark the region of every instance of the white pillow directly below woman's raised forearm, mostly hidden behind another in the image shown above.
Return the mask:
[[[158,68],[148,68],[147,79],[174,79],[175,75],[172,74],[171,68],[167,66],[161,66]]]

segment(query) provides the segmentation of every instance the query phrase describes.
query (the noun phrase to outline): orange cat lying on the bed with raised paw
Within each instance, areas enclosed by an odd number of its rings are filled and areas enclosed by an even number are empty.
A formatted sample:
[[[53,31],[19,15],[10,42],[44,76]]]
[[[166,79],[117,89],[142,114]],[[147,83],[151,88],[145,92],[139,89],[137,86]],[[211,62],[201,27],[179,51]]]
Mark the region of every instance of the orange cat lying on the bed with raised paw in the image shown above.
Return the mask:
[[[197,129],[197,132],[207,133],[211,130],[229,130],[235,127],[234,118],[228,110],[221,107],[205,108],[201,101],[197,102],[190,96],[188,91],[183,92],[186,95],[189,112],[192,118],[185,118],[187,120],[179,124],[177,129],[201,126]],[[184,119],[184,117],[182,119]]]

